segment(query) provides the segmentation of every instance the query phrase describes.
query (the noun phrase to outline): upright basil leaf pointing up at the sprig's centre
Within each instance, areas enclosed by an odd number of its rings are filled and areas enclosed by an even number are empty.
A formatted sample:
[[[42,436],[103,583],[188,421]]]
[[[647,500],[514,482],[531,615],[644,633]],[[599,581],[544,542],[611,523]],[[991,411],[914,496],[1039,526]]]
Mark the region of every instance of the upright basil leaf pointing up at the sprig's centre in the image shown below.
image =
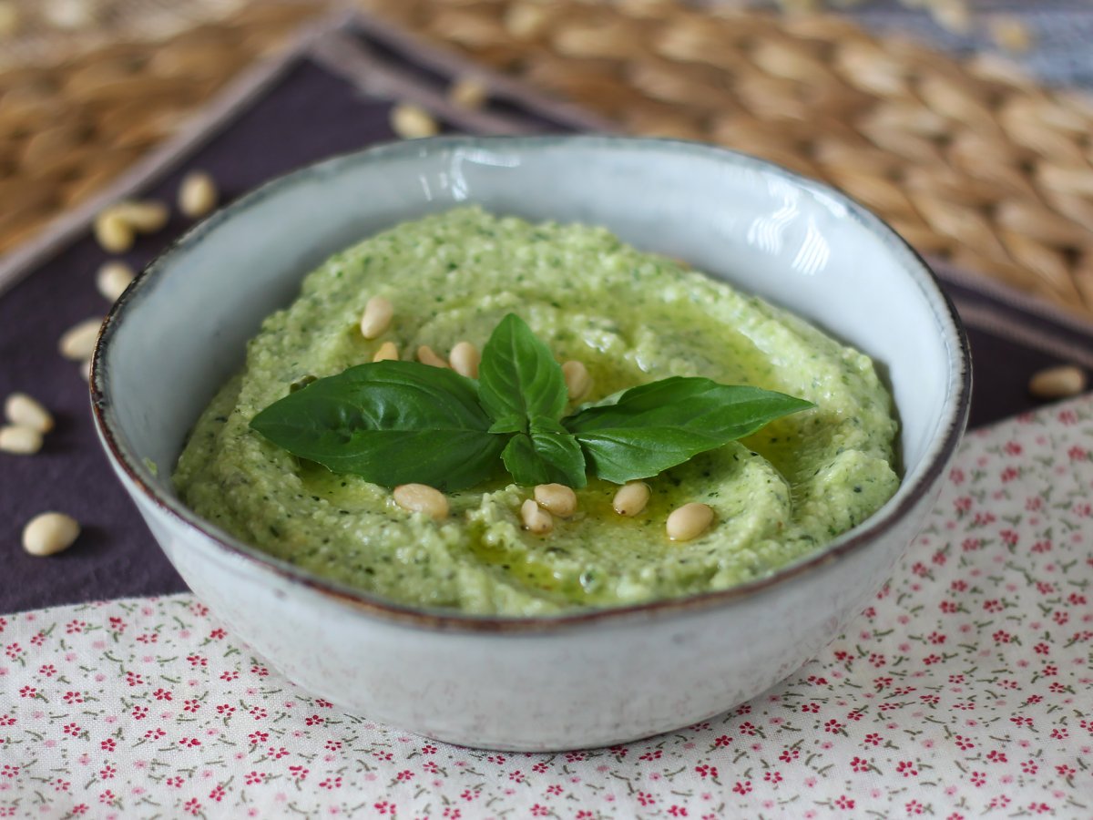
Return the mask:
[[[537,415],[556,419],[565,409],[565,377],[550,348],[516,314],[494,328],[479,364],[479,400],[495,422],[495,432],[512,432],[513,420]]]

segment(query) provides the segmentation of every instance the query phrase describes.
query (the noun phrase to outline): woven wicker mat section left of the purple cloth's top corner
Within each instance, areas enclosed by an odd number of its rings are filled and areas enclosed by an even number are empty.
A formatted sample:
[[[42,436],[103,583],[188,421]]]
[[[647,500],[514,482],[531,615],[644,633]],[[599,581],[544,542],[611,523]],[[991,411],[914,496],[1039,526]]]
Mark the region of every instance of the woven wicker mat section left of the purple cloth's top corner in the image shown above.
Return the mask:
[[[317,10],[255,3],[168,40],[0,71],[0,254],[91,197]]]

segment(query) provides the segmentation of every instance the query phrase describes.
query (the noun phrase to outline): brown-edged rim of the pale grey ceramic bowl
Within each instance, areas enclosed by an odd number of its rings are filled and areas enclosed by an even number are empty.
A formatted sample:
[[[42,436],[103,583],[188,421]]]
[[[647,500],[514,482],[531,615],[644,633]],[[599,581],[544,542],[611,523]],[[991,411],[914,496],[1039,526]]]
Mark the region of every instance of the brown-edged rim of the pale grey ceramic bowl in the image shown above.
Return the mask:
[[[549,616],[474,614],[458,610],[398,604],[340,582],[324,578],[269,555],[246,541],[221,530],[190,511],[178,499],[160,490],[157,481],[161,479],[144,464],[143,459],[125,444],[126,437],[121,432],[121,424],[115,415],[106,385],[110,342],[115,333],[126,314],[134,309],[134,305],[156,285],[160,281],[160,277],[156,274],[169,267],[176,254],[196,245],[208,233],[227,222],[233,215],[277,195],[280,189],[305,180],[312,175],[329,172],[341,163],[377,163],[391,157],[420,156],[434,151],[443,153],[459,148],[524,151],[528,149],[549,150],[559,144],[574,144],[579,148],[598,150],[610,150],[612,147],[621,145],[627,149],[693,153],[715,160],[729,160],[738,166],[773,174],[813,195],[834,199],[846,208],[849,216],[879,238],[889,250],[893,251],[897,259],[901,256],[905,257],[904,263],[901,265],[903,270],[916,280],[928,298],[932,296],[929,301],[933,306],[935,318],[945,335],[945,348],[950,353],[948,394],[942,402],[943,414],[939,419],[937,433],[927,444],[924,468],[920,469],[915,480],[910,483],[901,481],[893,499],[858,526],[842,534],[821,550],[785,564],[768,575],[726,589]],[[820,567],[846,559],[863,549],[882,535],[885,529],[905,517],[929,494],[955,453],[967,422],[971,406],[972,366],[967,335],[960,315],[952,300],[941,288],[940,280],[930,266],[886,222],[837,188],[750,154],[689,140],[598,134],[443,136],[374,144],[362,150],[336,154],[318,162],[308,163],[270,178],[193,225],[155,256],[110,307],[99,330],[92,355],[89,386],[95,426],[103,448],[109,460],[113,461],[115,469],[129,480],[131,487],[136,488],[146,502],[177,524],[196,530],[196,535],[203,536],[210,544],[218,548],[221,553],[226,553],[230,559],[243,559],[259,572],[272,572],[289,584],[303,587],[336,602],[348,605],[356,611],[388,622],[428,631],[527,635],[553,634],[600,623],[622,623],[667,614],[696,614],[710,609],[728,608],[731,605],[772,591],[776,587],[799,581]],[[898,501],[893,504],[892,502],[896,499]]]

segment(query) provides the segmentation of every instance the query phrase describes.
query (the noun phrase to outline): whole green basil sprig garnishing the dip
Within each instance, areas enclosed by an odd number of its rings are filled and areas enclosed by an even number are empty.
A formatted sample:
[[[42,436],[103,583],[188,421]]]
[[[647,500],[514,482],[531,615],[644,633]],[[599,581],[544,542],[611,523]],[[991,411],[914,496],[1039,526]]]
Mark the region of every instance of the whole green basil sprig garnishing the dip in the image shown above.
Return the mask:
[[[562,418],[565,377],[515,314],[482,350],[479,379],[385,361],[316,379],[274,401],[250,426],[299,458],[385,487],[455,491],[498,471],[532,485],[581,488],[590,470],[614,483],[649,478],[814,407],[708,378],[632,387]]]

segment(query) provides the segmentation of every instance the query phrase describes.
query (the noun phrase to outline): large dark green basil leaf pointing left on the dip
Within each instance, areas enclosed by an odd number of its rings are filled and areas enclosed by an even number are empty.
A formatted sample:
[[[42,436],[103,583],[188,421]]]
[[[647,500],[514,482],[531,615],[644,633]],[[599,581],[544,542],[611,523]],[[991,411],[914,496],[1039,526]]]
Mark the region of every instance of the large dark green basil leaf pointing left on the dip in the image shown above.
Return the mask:
[[[472,487],[495,472],[503,436],[474,383],[419,362],[375,362],[274,401],[250,426],[299,458],[385,487]]]

